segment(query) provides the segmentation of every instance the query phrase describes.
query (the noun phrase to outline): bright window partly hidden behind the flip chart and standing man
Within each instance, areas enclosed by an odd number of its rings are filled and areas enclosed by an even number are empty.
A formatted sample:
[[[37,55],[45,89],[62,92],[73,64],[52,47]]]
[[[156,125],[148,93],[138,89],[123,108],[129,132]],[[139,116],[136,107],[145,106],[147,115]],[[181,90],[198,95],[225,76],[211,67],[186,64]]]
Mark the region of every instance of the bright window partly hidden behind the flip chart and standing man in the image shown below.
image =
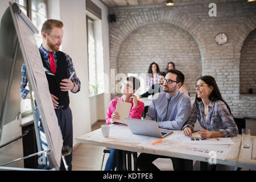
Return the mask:
[[[43,23],[47,20],[47,0],[14,0],[14,2],[19,5],[23,13],[26,14],[36,28],[38,28],[39,34],[36,35],[35,38],[38,47],[40,47],[43,41],[40,31]],[[32,113],[30,99],[22,100],[20,105],[22,115]]]

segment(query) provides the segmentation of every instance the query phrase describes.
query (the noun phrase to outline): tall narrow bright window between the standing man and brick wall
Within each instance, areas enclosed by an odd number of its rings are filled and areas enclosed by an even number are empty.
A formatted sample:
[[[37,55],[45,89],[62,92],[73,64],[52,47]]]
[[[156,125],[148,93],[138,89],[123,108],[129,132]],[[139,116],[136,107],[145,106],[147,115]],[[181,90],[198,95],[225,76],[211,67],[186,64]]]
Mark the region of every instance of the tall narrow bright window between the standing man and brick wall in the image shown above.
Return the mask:
[[[100,19],[86,16],[88,41],[89,95],[104,93],[104,60]]]

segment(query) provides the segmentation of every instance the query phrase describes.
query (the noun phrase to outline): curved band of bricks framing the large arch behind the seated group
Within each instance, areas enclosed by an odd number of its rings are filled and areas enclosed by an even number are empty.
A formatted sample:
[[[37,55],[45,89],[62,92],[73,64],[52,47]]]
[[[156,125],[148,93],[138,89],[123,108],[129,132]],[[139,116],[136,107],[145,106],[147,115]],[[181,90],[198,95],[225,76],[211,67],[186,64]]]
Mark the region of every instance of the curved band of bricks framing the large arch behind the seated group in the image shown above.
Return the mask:
[[[197,19],[193,19],[188,15],[182,14],[177,10],[148,10],[143,13],[135,14],[131,18],[123,22],[110,34],[110,68],[117,69],[117,59],[120,48],[126,38],[137,28],[152,23],[170,23],[174,26],[182,28],[188,32],[195,40],[203,63],[204,55],[207,53],[205,42],[202,34],[204,27]]]

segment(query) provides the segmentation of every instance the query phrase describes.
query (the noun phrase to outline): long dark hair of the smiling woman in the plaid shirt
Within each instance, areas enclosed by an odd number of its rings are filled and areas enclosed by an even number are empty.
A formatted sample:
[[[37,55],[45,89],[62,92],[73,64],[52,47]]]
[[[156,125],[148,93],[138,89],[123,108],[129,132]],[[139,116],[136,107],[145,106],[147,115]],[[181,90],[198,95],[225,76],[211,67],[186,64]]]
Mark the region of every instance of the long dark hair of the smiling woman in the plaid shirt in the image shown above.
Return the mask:
[[[202,76],[202,77],[198,78],[197,81],[198,80],[203,80],[207,85],[213,87],[212,93],[210,93],[210,96],[209,96],[209,100],[224,102],[226,104],[226,107],[228,107],[229,113],[232,114],[229,105],[223,100],[223,98],[221,96],[220,90],[218,89],[215,79],[212,76]],[[201,98],[198,98],[197,94],[196,94],[195,104],[196,104],[197,110],[199,110],[197,102],[200,102],[200,101],[202,101]]]

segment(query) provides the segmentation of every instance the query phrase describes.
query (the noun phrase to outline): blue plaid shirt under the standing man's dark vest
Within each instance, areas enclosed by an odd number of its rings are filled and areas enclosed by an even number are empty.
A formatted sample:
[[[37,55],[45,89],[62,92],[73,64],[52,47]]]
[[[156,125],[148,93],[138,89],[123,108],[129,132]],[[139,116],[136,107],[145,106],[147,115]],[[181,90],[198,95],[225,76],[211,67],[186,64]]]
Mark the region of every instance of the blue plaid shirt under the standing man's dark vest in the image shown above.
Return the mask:
[[[43,54],[44,60],[46,61],[47,65],[50,67],[49,57],[48,57],[50,52],[47,51],[45,48],[43,48],[42,45],[40,46],[39,51]],[[51,53],[53,53],[53,57],[54,57],[55,65],[56,65],[56,69],[57,69],[57,55],[56,55],[56,52],[51,52]],[[65,56],[67,57],[67,63],[68,63],[67,73],[68,73],[68,78],[69,78],[71,76],[71,74],[73,72],[75,72],[75,69],[74,69],[71,57],[69,57],[69,55],[67,55],[66,53],[65,53]],[[26,69],[26,66],[25,66],[24,63],[22,65],[22,70],[21,71],[22,71],[22,79],[21,79],[21,82],[20,82],[20,97],[22,99],[24,99],[27,96],[28,92],[29,92],[29,90],[26,88],[28,80],[27,80],[27,69]],[[73,77],[71,78],[71,81],[75,82],[75,84],[77,84],[79,86],[79,89],[77,90],[77,92],[79,92],[80,88],[81,88],[81,82],[80,82],[79,78],[77,78],[76,72],[73,75]]]

